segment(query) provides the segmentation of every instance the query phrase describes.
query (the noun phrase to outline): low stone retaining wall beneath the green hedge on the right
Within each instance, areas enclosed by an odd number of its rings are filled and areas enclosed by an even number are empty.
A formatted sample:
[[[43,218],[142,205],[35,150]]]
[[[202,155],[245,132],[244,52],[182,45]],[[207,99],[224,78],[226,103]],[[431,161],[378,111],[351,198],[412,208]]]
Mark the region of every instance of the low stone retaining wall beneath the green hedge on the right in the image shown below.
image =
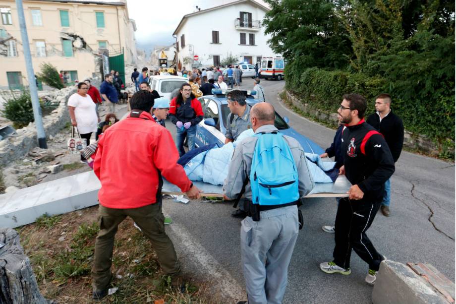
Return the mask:
[[[321,121],[334,123],[334,126],[338,125],[338,115],[336,113],[328,114],[322,112],[319,109],[310,107],[308,104],[302,103],[298,98],[286,90],[285,93],[288,101],[302,112],[314,116]],[[440,153],[438,146],[433,142],[433,140],[424,135],[414,134],[407,130],[404,132],[404,147],[431,155],[439,155]]]

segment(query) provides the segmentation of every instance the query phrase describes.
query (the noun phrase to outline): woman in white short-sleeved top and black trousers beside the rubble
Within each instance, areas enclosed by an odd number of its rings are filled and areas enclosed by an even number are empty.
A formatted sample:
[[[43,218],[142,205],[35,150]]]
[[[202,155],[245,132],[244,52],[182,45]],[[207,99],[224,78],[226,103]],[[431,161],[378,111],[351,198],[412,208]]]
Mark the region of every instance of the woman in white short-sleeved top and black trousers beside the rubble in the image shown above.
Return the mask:
[[[70,113],[71,125],[76,126],[79,135],[85,138],[87,145],[90,144],[92,132],[97,131],[98,116],[95,111],[95,104],[87,94],[89,86],[85,82],[78,83],[78,91],[68,99],[68,111]],[[81,155],[81,162],[87,162]]]

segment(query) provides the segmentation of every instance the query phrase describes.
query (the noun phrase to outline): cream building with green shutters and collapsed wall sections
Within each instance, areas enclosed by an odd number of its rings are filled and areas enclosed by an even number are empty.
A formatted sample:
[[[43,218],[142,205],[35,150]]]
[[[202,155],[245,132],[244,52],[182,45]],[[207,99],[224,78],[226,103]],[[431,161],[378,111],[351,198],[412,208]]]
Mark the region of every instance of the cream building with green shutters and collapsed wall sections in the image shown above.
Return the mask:
[[[126,0],[23,0],[33,68],[49,62],[68,72],[69,82],[101,76],[102,52],[134,64],[136,25]],[[14,0],[0,0],[0,89],[27,85]],[[106,51],[108,50],[108,51]]]

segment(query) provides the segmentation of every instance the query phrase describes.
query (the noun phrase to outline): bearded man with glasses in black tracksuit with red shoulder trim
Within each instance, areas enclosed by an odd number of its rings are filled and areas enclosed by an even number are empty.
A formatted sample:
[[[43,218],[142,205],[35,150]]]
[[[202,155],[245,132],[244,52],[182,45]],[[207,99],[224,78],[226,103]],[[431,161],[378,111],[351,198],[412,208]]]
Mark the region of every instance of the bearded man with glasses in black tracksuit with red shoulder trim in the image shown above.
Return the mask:
[[[352,186],[342,198],[336,215],[334,260],[320,264],[326,273],[348,275],[353,249],[369,264],[366,282],[373,285],[384,257],[366,235],[383,199],[384,184],[394,173],[394,160],[383,136],[364,122],[366,100],[357,94],[343,96],[339,120],[345,123],[341,150],[345,174]]]

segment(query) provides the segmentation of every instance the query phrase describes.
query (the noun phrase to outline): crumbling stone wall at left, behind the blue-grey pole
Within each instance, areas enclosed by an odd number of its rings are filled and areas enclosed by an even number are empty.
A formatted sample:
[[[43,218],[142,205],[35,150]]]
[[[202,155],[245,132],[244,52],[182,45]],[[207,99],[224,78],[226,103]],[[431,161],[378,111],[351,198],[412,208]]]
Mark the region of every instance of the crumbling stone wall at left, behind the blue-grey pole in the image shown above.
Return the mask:
[[[92,79],[92,84],[99,87],[100,80]],[[46,137],[54,136],[67,122],[70,122],[67,102],[68,98],[75,92],[76,86],[50,92],[50,95],[55,96],[54,100],[58,101],[59,105],[50,115],[43,117]],[[30,122],[26,127],[20,128],[16,132],[16,136],[0,140],[0,166],[8,165],[38,146],[35,122]]]

